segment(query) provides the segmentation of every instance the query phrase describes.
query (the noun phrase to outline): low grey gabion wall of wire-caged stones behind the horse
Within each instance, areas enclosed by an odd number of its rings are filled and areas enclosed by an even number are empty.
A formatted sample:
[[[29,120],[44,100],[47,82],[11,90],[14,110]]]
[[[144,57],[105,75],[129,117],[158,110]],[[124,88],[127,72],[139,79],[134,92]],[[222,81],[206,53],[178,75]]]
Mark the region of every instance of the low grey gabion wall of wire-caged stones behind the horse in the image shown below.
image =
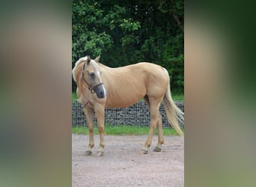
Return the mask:
[[[175,102],[176,105],[184,111],[183,102]],[[162,126],[170,127],[165,108],[161,104],[159,108],[162,114]],[[105,109],[105,124],[109,126],[149,126],[150,117],[146,102],[141,100],[135,105],[128,108],[106,108]],[[94,124],[97,126],[97,120],[94,114]],[[87,126],[85,114],[82,110],[82,105],[79,102],[72,102],[72,126]]]

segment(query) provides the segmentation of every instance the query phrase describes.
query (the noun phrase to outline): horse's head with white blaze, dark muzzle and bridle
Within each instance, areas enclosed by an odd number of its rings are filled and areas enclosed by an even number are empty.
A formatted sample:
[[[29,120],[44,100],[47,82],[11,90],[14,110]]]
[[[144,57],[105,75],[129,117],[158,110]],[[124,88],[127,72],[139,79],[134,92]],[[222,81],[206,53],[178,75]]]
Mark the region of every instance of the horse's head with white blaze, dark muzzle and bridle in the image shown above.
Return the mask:
[[[99,99],[106,96],[106,89],[101,80],[101,71],[97,62],[99,62],[100,56],[95,60],[92,60],[90,56],[85,57],[85,64],[82,69],[82,79],[85,84],[88,85],[91,93],[96,93]]]

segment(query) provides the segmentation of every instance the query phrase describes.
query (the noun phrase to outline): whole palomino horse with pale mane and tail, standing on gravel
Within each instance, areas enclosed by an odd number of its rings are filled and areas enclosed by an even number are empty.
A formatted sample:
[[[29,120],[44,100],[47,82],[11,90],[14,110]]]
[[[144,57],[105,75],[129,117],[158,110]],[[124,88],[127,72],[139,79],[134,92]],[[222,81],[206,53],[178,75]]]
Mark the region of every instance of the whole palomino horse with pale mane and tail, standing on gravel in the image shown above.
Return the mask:
[[[183,122],[183,111],[180,111],[171,99],[169,76],[165,68],[146,62],[110,68],[99,61],[100,56],[95,60],[85,56],[76,62],[72,70],[77,85],[76,93],[83,105],[89,129],[89,146],[85,155],[91,155],[94,147],[94,111],[100,132],[98,156],[103,156],[105,108],[124,108],[134,105],[143,97],[150,111],[150,132],[141,153],[147,153],[156,126],[158,143],[154,151],[161,150],[164,138],[159,105],[162,101],[169,123],[179,135],[183,135],[178,124],[178,120]]]

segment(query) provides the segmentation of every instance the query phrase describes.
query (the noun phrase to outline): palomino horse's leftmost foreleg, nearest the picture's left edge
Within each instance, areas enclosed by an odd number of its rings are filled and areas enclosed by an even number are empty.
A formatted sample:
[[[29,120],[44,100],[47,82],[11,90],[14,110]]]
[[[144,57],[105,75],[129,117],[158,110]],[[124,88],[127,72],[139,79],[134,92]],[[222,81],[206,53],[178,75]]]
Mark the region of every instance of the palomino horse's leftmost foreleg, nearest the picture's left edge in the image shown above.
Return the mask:
[[[84,108],[86,121],[88,123],[88,130],[89,130],[89,146],[88,149],[85,151],[85,156],[92,155],[92,148],[94,147],[94,110],[91,108]]]

